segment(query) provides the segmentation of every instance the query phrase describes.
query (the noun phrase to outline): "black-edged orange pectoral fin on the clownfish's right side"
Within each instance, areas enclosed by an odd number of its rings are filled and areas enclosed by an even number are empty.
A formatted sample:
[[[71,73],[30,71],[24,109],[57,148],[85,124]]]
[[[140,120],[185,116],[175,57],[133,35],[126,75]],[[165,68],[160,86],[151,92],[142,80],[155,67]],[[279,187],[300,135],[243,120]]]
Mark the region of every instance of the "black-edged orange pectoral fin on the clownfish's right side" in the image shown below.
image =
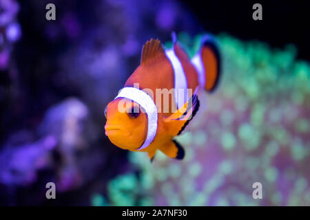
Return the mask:
[[[194,94],[183,107],[180,107],[176,112],[169,115],[165,118],[164,122],[171,123],[171,134],[180,135],[185,129],[189,121],[196,115],[196,112],[199,109],[199,100],[198,96]]]

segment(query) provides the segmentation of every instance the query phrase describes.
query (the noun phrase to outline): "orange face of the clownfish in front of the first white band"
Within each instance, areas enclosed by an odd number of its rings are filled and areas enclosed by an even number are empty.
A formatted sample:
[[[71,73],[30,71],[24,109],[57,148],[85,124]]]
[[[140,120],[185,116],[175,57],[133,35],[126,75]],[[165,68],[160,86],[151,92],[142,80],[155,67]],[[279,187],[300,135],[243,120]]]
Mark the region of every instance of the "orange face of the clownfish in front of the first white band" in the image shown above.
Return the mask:
[[[138,149],[147,136],[147,114],[142,107],[127,98],[116,98],[105,107],[105,135],[116,146]]]

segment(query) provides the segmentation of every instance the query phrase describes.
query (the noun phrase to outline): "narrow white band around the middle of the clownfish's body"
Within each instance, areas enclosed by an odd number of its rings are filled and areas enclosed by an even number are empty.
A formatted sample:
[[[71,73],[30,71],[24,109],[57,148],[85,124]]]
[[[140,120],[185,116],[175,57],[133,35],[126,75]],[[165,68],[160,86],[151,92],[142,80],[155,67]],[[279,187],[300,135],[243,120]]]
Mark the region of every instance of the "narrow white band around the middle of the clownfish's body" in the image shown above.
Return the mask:
[[[172,49],[165,50],[165,54],[167,58],[169,58],[172,68],[174,69],[174,97],[176,98],[176,106],[180,109],[188,100],[185,72],[174,52],[174,46]],[[181,92],[182,90],[183,92]],[[182,97],[183,94],[184,96]]]

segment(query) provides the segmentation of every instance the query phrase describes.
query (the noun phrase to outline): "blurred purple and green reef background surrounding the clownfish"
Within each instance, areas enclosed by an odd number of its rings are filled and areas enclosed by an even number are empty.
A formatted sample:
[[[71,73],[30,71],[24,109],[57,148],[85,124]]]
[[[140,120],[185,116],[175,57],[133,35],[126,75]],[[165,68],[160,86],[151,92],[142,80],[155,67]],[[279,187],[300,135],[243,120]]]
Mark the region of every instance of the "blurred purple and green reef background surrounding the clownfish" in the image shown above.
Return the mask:
[[[254,3],[0,0],[0,205],[310,206],[310,3],[260,1],[262,21]],[[172,31],[189,55],[214,34],[223,75],[177,137],[185,159],[151,164],[107,139],[103,111]]]

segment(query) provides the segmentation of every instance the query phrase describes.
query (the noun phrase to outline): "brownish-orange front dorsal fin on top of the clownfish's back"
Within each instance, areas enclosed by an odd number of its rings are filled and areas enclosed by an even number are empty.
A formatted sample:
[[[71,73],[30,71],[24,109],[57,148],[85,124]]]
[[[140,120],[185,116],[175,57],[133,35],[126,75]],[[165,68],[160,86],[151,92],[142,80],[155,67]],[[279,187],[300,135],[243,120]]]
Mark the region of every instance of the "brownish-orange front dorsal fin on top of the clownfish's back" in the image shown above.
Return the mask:
[[[147,65],[152,63],[161,56],[165,55],[165,50],[161,45],[161,41],[158,39],[151,39],[143,45],[142,55],[141,55],[141,65]]]

